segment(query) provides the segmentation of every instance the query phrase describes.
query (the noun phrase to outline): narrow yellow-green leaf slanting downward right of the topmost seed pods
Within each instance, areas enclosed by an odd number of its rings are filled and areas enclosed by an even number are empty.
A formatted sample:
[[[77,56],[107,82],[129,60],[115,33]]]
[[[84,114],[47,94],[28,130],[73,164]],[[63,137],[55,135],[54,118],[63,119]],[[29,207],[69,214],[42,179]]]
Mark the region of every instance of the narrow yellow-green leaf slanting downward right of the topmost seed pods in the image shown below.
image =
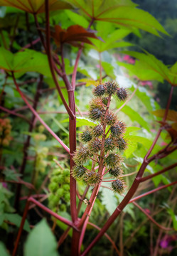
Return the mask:
[[[122,110],[124,114],[127,114],[127,116],[132,120],[138,122],[141,127],[144,127],[149,131],[149,124],[144,120],[143,117],[140,116],[138,112],[132,109],[132,107],[129,107],[128,105],[125,105]]]

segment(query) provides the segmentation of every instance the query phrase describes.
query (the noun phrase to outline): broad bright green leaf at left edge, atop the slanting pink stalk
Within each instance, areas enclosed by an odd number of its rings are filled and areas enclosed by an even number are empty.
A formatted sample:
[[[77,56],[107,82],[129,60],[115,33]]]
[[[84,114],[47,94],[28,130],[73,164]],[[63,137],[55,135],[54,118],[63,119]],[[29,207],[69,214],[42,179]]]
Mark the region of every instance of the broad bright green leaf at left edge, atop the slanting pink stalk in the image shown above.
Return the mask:
[[[0,55],[0,68],[7,72],[21,73],[21,75],[26,72],[38,72],[51,76],[47,56],[36,50],[24,50],[13,54],[1,47]]]

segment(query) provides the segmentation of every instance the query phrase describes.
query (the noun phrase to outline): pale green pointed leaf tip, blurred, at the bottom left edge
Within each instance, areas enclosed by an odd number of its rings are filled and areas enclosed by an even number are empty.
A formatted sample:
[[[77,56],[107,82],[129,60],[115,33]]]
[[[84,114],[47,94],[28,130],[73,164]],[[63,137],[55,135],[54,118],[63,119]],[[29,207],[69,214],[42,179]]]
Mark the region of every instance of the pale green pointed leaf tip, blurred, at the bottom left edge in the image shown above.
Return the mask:
[[[25,256],[58,256],[57,242],[46,220],[41,220],[28,235]]]

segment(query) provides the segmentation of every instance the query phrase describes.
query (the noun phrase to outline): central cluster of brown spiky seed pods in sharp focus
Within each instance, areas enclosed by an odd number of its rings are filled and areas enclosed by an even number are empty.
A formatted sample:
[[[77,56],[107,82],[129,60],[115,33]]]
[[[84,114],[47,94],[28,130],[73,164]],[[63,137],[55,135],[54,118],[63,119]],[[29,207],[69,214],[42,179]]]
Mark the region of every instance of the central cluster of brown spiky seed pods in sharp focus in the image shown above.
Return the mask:
[[[110,176],[116,178],[112,181],[112,190],[122,193],[124,181],[119,178],[122,176],[120,153],[127,147],[123,137],[125,125],[109,110],[109,105],[112,96],[120,101],[126,100],[127,90],[119,87],[117,82],[105,82],[95,87],[93,95],[95,97],[90,102],[89,118],[97,124],[81,134],[80,139],[86,145],[75,151],[72,174],[74,178],[85,181],[88,186],[95,186],[102,181],[102,170],[106,169]],[[91,170],[84,166],[89,159],[95,161]]]

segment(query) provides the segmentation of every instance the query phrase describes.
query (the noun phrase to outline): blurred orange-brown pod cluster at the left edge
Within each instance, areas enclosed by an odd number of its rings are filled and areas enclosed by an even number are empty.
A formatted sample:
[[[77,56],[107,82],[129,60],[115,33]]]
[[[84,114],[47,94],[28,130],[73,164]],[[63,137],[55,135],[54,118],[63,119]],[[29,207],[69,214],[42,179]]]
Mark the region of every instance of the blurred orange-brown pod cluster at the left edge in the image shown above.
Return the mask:
[[[0,119],[0,146],[9,146],[11,142],[11,121],[10,119]]]

